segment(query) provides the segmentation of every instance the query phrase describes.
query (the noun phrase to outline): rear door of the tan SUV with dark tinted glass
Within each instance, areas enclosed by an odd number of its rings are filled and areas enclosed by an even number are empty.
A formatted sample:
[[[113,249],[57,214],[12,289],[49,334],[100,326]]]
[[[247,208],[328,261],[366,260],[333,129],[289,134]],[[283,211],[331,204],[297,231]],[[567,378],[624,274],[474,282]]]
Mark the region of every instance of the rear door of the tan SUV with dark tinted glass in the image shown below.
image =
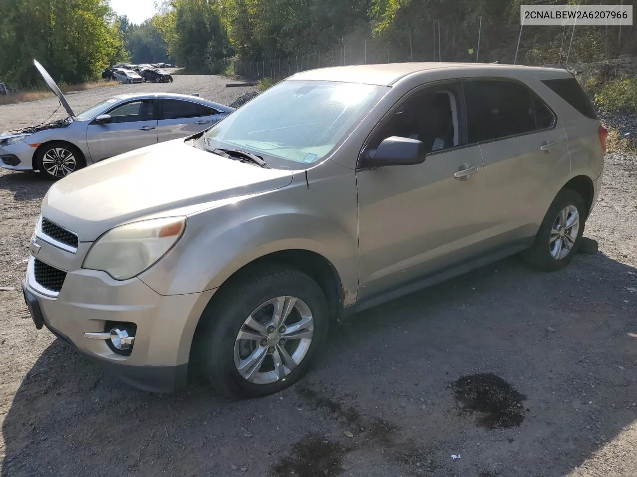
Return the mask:
[[[547,104],[509,79],[464,83],[468,142],[484,159],[487,245],[527,244],[570,171],[566,135]]]

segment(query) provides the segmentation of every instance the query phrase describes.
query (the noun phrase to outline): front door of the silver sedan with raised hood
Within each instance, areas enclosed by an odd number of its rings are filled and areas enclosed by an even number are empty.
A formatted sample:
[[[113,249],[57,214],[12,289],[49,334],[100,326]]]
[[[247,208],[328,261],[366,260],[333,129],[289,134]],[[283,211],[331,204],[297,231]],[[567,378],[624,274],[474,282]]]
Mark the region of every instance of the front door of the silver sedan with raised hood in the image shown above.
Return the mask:
[[[93,162],[157,143],[154,99],[138,99],[113,107],[104,114],[110,123],[92,121],[87,142]]]

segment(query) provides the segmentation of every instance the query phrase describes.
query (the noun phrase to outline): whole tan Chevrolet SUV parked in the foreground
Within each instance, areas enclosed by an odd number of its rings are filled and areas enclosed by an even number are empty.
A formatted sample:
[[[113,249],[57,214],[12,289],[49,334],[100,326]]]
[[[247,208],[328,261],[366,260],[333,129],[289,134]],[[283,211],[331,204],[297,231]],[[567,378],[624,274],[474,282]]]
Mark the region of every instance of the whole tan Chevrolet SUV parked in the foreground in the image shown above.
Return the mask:
[[[517,252],[568,265],[605,141],[563,69],[298,73],[204,132],[54,184],[25,301],[36,328],[143,389],[196,364],[228,396],[270,394],[333,320]]]

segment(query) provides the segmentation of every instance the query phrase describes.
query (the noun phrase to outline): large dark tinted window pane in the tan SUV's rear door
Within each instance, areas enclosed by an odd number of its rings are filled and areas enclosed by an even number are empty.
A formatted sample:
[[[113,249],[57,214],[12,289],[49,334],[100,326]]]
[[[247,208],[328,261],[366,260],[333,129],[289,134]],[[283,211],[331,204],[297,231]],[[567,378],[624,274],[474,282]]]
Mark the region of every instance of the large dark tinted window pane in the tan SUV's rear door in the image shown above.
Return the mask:
[[[469,144],[525,134],[541,128],[536,127],[533,93],[520,83],[468,81],[464,85],[464,92]]]

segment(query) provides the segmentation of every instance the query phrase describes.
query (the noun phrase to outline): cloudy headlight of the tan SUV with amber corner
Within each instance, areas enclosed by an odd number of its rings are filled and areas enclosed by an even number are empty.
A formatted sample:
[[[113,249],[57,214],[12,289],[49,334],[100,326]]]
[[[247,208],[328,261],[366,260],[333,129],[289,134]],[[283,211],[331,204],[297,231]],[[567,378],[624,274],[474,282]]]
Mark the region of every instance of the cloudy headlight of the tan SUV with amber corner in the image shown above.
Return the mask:
[[[169,217],[115,227],[90,247],[82,268],[102,270],[115,280],[136,277],[176,244],[185,226],[185,217]]]

